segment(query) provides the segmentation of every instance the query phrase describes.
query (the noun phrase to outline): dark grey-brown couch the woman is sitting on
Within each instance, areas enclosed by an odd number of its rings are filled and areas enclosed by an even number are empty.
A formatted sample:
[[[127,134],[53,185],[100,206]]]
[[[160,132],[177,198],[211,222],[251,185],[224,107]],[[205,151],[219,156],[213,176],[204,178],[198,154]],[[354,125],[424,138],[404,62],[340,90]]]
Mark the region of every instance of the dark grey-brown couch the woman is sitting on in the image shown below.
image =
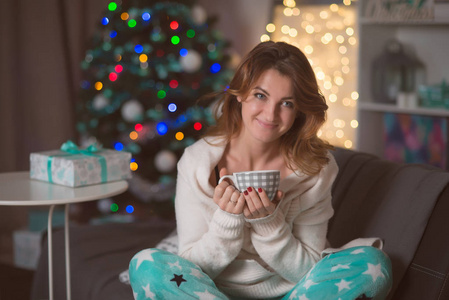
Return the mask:
[[[331,245],[381,237],[393,264],[389,299],[449,299],[449,173],[345,149],[334,155],[340,171],[332,191]],[[174,228],[174,220],[154,218],[71,228],[72,299],[132,299],[119,273],[136,252],[154,247]],[[54,251],[55,298],[65,299],[63,231],[55,233],[54,243],[59,249]],[[43,245],[31,299],[48,297]]]

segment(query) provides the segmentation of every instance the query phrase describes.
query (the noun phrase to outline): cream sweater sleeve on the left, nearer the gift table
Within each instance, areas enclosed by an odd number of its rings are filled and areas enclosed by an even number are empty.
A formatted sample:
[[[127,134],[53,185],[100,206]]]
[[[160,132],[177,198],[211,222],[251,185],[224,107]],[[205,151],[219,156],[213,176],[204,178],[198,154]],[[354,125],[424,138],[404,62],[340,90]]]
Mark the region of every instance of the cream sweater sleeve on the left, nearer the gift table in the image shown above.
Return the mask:
[[[197,264],[212,279],[239,254],[243,245],[243,215],[221,210],[201,191],[191,157],[178,164],[175,210],[179,255]]]

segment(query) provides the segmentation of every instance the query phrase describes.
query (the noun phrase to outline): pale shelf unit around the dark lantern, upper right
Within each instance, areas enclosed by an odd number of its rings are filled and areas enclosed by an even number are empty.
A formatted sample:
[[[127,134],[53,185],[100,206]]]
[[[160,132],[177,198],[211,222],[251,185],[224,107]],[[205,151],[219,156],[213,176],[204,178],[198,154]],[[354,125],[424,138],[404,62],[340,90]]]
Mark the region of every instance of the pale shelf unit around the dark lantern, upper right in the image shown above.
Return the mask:
[[[449,80],[449,13],[446,8],[437,11],[433,19],[394,20],[373,19],[364,14],[368,0],[359,1],[359,58],[356,148],[385,155],[385,114],[406,114],[449,120],[449,109],[427,107],[399,107],[396,104],[373,100],[373,61],[385,51],[390,40],[397,40],[408,54],[417,57],[425,66],[424,82],[428,85]],[[449,144],[446,145],[449,149]],[[449,152],[449,150],[447,150]]]

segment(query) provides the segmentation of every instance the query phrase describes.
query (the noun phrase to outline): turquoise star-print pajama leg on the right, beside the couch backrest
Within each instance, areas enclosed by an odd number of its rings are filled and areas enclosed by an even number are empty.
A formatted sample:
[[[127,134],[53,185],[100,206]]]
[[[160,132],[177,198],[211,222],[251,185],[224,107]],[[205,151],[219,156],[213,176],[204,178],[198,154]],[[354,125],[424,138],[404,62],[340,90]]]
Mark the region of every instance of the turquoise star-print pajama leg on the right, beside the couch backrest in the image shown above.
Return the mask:
[[[354,247],[324,257],[282,300],[384,300],[391,285],[388,257],[373,247]]]

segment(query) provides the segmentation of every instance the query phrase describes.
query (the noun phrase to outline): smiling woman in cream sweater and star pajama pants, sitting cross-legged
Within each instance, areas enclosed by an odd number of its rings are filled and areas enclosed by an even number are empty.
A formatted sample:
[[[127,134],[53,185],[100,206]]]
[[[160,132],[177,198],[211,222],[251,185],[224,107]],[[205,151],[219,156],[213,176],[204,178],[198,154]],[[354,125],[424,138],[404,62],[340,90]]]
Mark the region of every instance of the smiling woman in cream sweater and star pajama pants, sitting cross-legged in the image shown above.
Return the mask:
[[[327,105],[304,54],[282,42],[257,45],[218,107],[216,126],[178,163],[179,256],[136,254],[135,299],[384,299],[391,265],[373,240],[322,258],[338,167],[317,136]],[[218,184],[226,174],[274,169],[273,201],[259,187]]]

